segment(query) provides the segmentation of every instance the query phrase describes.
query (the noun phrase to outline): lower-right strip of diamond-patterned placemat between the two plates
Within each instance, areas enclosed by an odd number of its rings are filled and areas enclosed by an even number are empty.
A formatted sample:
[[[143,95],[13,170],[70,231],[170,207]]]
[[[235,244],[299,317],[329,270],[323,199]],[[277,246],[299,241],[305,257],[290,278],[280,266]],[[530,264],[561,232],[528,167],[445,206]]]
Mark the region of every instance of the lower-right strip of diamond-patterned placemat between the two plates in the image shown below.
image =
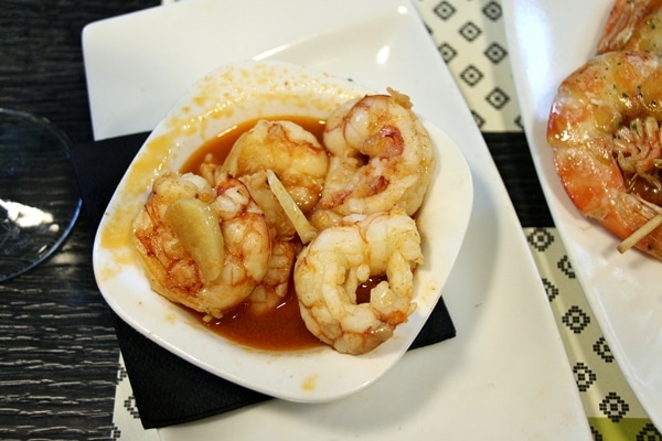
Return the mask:
[[[556,228],[524,228],[596,441],[662,440],[626,381]]]

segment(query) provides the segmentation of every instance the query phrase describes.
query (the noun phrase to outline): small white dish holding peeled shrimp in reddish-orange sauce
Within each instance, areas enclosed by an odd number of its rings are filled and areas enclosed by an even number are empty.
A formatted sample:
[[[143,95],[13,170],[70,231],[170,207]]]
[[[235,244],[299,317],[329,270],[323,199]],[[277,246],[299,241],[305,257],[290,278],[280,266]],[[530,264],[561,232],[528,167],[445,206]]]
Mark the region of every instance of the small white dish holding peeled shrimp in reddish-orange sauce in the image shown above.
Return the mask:
[[[340,354],[330,346],[256,351],[220,337],[150,291],[130,234],[154,176],[180,170],[218,133],[258,118],[325,119],[346,100],[367,93],[371,90],[346,79],[275,61],[232,64],[200,79],[146,140],[102,219],[93,258],[96,280],[108,304],[127,323],[174,354],[274,397],[329,401],[361,390],[384,375],[402,358],[437,304],[460,250],[473,202],[471,174],[462,153],[433,125],[424,122],[439,166],[417,216],[425,262],[414,276],[416,311],[393,337],[367,354]],[[440,234],[437,225],[446,226]]]

